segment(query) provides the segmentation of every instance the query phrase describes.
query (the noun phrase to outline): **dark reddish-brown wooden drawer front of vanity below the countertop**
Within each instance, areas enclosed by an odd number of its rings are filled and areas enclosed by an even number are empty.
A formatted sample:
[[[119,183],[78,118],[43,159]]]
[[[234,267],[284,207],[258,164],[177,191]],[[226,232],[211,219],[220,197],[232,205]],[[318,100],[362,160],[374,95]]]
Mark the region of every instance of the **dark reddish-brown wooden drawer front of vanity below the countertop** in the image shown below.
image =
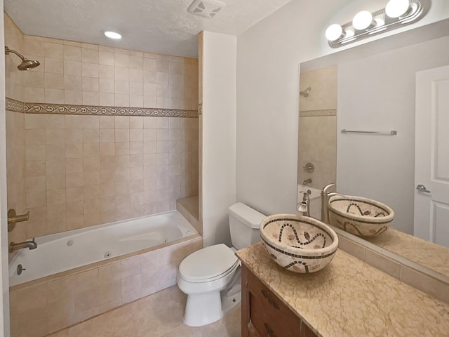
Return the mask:
[[[248,291],[251,324],[260,336],[300,336],[300,318],[252,273],[248,273]]]

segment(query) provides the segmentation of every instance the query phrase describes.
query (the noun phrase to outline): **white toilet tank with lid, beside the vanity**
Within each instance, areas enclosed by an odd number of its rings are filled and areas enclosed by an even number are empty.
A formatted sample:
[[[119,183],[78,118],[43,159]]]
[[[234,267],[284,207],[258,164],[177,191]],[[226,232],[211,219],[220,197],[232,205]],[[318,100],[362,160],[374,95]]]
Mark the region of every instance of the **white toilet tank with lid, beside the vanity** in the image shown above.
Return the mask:
[[[260,241],[259,226],[265,216],[238,202],[229,207],[229,230],[232,245],[242,249]]]

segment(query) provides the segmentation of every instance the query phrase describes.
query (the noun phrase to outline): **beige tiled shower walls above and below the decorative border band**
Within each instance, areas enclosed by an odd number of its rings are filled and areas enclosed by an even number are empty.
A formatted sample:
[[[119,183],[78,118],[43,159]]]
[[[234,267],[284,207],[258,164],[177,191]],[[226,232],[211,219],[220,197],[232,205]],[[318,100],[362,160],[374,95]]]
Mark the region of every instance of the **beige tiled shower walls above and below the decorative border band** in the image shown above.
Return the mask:
[[[22,34],[5,14],[6,94],[22,102],[196,110],[198,60]],[[175,209],[198,194],[198,119],[8,111],[10,241]]]

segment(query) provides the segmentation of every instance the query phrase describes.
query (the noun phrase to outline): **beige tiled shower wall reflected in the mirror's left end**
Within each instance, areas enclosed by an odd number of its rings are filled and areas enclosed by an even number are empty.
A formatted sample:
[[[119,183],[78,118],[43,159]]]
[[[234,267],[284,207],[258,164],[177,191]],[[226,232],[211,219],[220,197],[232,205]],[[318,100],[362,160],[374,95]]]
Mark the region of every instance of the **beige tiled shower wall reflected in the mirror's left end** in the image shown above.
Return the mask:
[[[300,95],[298,183],[321,188],[335,183],[337,165],[337,66],[300,74],[300,90],[311,88],[307,97]],[[302,166],[314,164],[313,173]]]

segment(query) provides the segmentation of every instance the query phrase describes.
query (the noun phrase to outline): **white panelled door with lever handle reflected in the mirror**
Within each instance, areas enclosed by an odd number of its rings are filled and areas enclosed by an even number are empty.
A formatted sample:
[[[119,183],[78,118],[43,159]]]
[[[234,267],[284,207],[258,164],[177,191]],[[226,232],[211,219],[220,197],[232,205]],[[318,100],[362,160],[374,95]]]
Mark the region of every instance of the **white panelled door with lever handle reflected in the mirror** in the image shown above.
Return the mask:
[[[449,66],[416,73],[414,234],[449,247]]]

